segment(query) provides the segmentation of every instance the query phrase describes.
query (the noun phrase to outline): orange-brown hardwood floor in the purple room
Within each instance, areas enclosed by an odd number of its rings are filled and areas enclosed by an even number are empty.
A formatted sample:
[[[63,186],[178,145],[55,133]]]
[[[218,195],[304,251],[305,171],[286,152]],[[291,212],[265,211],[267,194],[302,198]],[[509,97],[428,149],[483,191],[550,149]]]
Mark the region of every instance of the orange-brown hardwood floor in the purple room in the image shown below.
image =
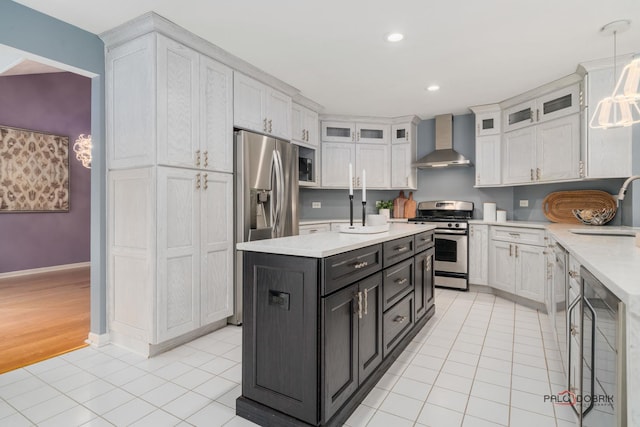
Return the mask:
[[[0,373],[86,345],[89,268],[0,279]]]

